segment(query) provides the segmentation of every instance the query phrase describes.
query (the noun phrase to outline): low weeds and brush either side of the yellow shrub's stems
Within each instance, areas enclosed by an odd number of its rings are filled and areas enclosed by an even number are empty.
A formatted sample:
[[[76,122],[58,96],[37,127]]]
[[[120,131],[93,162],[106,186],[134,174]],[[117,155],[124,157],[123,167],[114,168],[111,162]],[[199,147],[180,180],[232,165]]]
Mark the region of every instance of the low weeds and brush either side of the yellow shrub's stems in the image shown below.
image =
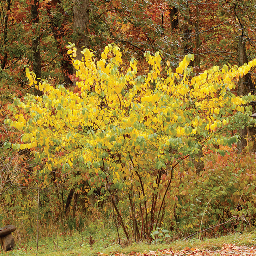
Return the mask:
[[[209,154],[205,161],[205,171],[200,176],[186,169],[185,165],[179,167],[167,194],[163,226],[160,230],[155,230],[153,236],[151,234],[153,240],[164,242],[169,237],[170,241],[183,239],[211,227],[215,228],[207,232],[208,237],[252,230],[256,216],[255,168],[255,154],[249,152],[244,155],[231,152],[225,156]],[[9,206],[2,204],[0,226],[15,225],[16,241],[28,244],[37,237],[37,201],[32,193],[19,193],[21,197],[13,192],[13,199],[7,198],[7,201],[11,200]],[[31,201],[25,203],[22,196],[30,196]],[[62,220],[54,215],[58,204],[56,201],[55,204],[49,201],[49,196],[40,197],[42,204],[46,205],[44,202],[47,202],[47,207],[43,205],[39,210],[40,238],[55,237],[57,243],[57,237],[66,237],[67,234],[72,236],[76,232],[77,240],[80,236],[82,240],[81,234],[85,241],[92,236],[95,244],[108,247],[110,244],[118,244],[116,220],[122,240],[122,225],[116,219],[110,202],[106,201],[103,207],[91,205],[87,214],[78,212],[74,218],[70,216],[67,220]],[[121,214],[127,229],[132,230],[131,215],[125,206],[120,205]],[[226,224],[222,225],[223,223]],[[103,237],[105,233],[106,237]],[[97,237],[98,234],[101,236]],[[110,234],[115,234],[115,237],[110,238]],[[131,237],[131,240],[134,241],[134,238]],[[127,245],[124,241],[121,244]],[[84,244],[83,241],[80,244]]]

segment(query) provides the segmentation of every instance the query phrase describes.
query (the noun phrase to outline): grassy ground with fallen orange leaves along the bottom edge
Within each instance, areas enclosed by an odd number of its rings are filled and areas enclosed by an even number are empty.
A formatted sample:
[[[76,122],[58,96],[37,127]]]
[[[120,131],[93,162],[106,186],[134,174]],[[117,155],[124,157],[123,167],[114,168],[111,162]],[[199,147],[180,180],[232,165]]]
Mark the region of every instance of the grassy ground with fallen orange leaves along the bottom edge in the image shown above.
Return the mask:
[[[45,238],[39,241],[38,256],[256,256],[256,232],[244,232],[216,238],[192,238],[173,242],[148,244],[146,241],[119,246],[111,232],[102,239],[95,234],[95,243],[89,244],[89,237],[79,238],[79,232],[66,236]],[[168,242],[168,243],[167,243]],[[17,248],[2,255],[35,256],[36,241],[17,243]]]

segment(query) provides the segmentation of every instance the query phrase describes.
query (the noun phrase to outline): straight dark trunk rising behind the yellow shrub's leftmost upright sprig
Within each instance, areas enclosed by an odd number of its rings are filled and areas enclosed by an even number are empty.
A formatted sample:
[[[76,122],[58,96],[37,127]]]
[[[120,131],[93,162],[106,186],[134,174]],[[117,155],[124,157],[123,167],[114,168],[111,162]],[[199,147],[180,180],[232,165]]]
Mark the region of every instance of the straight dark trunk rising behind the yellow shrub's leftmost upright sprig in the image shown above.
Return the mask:
[[[32,61],[33,61],[33,72],[36,75],[37,83],[39,84],[41,73],[41,54],[40,54],[40,27],[39,27],[39,0],[32,0],[31,2],[31,24],[34,37],[32,37]],[[34,94],[41,96],[42,91],[34,88]]]

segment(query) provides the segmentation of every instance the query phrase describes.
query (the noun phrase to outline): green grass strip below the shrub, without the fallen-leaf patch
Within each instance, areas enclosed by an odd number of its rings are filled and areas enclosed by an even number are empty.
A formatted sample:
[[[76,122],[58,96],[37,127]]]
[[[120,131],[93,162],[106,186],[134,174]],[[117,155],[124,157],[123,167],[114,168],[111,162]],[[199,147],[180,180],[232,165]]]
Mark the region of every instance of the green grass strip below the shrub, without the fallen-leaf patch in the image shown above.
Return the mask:
[[[89,244],[89,237],[95,240],[93,246]],[[124,237],[124,236],[122,236]],[[149,244],[146,241],[140,243],[127,243],[125,239],[121,240],[122,246],[118,245],[118,239],[114,228],[102,228],[97,225],[91,225],[86,228],[83,234],[78,231],[69,233],[56,232],[49,238],[39,240],[38,255],[39,256],[96,256],[99,253],[104,255],[114,255],[115,253],[129,254],[145,253],[149,251],[157,251],[158,249],[182,250],[188,248],[218,250],[223,244],[236,244],[243,246],[256,245],[256,232],[244,232],[243,234],[229,234],[217,238],[192,238],[188,241],[163,241],[158,244]],[[28,241],[25,244],[17,243],[17,248],[11,252],[2,255],[13,256],[34,256],[37,251],[36,239]]]

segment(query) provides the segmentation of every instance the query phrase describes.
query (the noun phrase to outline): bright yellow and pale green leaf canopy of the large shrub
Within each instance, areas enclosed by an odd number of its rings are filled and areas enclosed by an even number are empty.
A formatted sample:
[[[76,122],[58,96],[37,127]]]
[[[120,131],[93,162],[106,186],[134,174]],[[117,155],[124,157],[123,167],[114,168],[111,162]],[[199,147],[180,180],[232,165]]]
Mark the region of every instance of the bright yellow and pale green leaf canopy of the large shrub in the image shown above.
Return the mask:
[[[24,131],[26,143],[20,149],[35,148],[38,161],[47,160],[46,173],[55,168],[72,172],[81,164],[90,175],[108,177],[120,189],[123,184],[130,189],[139,177],[147,177],[148,188],[155,184],[155,169],[193,155],[202,143],[218,140],[230,146],[232,141],[220,136],[229,133],[228,125],[240,125],[241,112],[250,113],[243,105],[254,96],[242,98],[231,90],[256,60],[239,68],[214,66],[193,76],[193,55],[185,56],[176,72],[168,61],[164,73],[160,53],[146,52],[152,69],[138,75],[135,59],[127,70],[121,68],[117,46],[106,46],[98,61],[86,48],[82,61],[76,60],[76,48],[68,48],[81,93],[41,81],[38,88],[44,97],[17,99],[15,106],[26,109],[27,116],[17,114],[16,121],[9,122]],[[32,72],[26,69],[26,74],[30,85],[37,84]]]

